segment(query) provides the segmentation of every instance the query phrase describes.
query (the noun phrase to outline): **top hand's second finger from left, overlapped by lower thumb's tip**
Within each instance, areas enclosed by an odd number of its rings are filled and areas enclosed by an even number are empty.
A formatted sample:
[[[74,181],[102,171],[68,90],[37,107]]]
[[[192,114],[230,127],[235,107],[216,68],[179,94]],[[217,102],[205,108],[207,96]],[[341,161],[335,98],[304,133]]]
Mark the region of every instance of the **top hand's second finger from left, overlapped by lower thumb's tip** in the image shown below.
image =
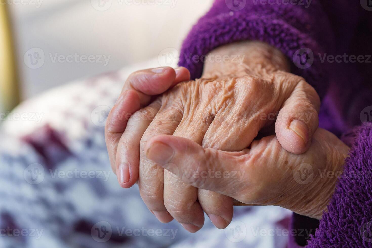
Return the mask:
[[[173,134],[182,119],[179,108],[162,107],[146,129],[140,142],[140,176],[138,186],[142,200],[160,220],[166,223],[173,219],[164,205],[164,169],[145,156],[144,146],[148,139],[157,134]]]

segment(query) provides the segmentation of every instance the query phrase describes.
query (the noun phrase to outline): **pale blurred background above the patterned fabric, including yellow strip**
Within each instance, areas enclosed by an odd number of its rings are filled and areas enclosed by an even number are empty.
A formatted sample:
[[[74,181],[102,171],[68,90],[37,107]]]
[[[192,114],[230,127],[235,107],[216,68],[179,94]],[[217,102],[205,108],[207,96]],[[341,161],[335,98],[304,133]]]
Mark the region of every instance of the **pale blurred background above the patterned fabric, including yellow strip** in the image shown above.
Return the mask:
[[[179,49],[211,4],[212,0],[0,0],[0,113],[48,88]]]

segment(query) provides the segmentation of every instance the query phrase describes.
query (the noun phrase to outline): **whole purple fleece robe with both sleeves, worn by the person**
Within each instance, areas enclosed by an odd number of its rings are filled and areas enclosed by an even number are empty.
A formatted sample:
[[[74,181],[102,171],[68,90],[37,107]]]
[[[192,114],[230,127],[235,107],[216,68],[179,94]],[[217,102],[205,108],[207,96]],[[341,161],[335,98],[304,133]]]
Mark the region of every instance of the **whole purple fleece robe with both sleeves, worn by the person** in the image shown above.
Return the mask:
[[[372,247],[371,38],[369,0],[215,0],[183,43],[179,65],[192,78],[202,74],[198,58],[224,44],[257,40],[280,49],[292,73],[320,95],[320,127],[351,146],[323,218],[293,215],[292,228],[315,233],[309,240],[290,235],[289,247]],[[312,62],[299,60],[301,48],[312,52]]]

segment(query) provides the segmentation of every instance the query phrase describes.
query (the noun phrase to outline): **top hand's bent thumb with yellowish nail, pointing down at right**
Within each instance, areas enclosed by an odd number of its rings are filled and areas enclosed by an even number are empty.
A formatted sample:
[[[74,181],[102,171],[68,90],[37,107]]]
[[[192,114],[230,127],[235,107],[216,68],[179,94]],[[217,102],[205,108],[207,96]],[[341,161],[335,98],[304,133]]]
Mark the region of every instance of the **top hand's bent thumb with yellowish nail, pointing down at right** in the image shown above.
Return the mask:
[[[275,133],[284,149],[294,154],[307,151],[319,125],[319,108],[320,99],[314,88],[305,81],[299,82],[275,122]]]

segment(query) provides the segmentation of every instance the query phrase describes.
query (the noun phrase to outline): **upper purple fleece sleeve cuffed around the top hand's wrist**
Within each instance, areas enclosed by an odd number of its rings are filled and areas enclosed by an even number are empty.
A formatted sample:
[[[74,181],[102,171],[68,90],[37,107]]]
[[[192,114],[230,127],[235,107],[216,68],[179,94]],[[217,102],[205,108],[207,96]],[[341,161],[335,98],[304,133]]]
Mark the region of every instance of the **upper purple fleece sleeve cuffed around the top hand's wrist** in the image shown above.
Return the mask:
[[[202,75],[203,56],[212,49],[235,41],[264,41],[280,49],[291,61],[291,71],[304,77],[323,97],[329,85],[331,68],[321,61],[318,54],[334,51],[334,33],[337,29],[328,18],[321,0],[298,0],[301,4],[288,4],[291,1],[287,1],[287,4],[284,4],[285,1],[282,4],[276,2],[216,0],[183,42],[179,65],[188,68],[192,79],[195,79]],[[337,6],[347,9],[344,2],[338,1]],[[348,6],[349,23],[354,23],[353,19],[357,16],[353,11],[355,4],[352,5],[353,7],[350,4]],[[334,7],[331,11],[339,13]],[[311,51],[314,61],[305,57],[301,59],[297,52],[301,48]],[[300,62],[306,63],[301,65]]]

